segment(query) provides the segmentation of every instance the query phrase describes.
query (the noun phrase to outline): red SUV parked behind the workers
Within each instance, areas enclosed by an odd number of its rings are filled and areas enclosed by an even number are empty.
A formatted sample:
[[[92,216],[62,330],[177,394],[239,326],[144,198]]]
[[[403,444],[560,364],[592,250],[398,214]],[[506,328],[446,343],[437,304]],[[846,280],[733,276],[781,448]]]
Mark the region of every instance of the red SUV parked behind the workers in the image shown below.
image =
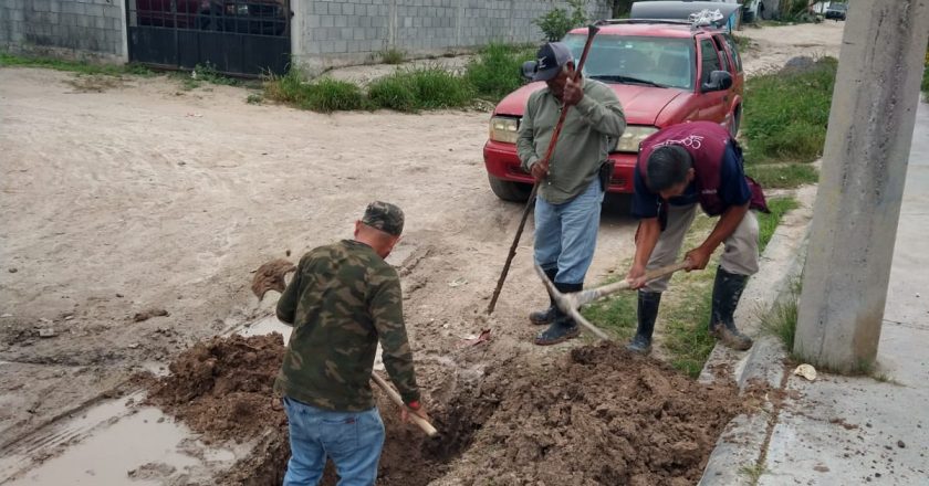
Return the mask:
[[[563,40],[581,57],[587,29]],[[744,73],[735,42],[724,29],[685,21],[608,21],[594,39],[584,76],[612,87],[626,114],[626,131],[609,158],[616,170],[609,192],[633,192],[639,142],[660,128],[687,120],[712,120],[739,130]],[[490,119],[483,156],[490,188],[500,199],[525,201],[532,177],[516,155],[516,133],[529,95],[545,87],[530,83],[503,98]]]

